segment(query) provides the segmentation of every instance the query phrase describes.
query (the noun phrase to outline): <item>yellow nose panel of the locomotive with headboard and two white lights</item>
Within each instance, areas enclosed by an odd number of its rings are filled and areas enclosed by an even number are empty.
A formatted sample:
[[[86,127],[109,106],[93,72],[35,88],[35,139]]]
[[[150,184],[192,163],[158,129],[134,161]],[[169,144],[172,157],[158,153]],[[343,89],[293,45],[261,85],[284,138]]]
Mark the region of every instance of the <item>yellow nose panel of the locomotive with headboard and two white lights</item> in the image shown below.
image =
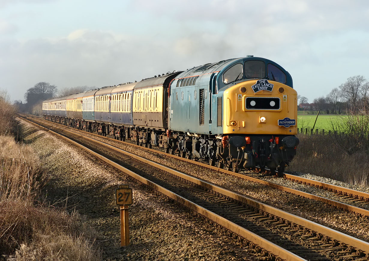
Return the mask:
[[[270,80],[235,84],[224,91],[223,118],[224,133],[295,135],[297,93],[285,84]],[[289,120],[287,127],[280,121],[284,118]]]

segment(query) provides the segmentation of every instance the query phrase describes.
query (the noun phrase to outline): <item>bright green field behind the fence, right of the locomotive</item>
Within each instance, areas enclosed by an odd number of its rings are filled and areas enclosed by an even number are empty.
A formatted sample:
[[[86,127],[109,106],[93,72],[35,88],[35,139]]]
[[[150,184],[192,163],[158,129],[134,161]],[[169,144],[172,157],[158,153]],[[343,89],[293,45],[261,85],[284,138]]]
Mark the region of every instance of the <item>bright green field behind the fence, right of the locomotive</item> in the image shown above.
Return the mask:
[[[317,123],[315,123],[314,129],[324,129],[325,131],[332,130],[332,122],[339,122],[342,119],[346,118],[347,115],[331,115],[331,114],[320,114],[317,119]],[[298,114],[297,115],[297,128],[308,128],[309,130],[313,128],[315,119],[317,115],[312,114]]]

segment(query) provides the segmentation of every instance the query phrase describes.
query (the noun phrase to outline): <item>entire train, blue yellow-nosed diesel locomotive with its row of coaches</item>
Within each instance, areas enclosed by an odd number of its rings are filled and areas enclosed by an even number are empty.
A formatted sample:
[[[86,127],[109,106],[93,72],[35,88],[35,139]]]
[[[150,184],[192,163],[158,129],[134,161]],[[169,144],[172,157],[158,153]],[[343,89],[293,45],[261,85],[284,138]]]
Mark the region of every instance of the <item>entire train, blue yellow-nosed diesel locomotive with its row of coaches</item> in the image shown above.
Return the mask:
[[[49,121],[235,172],[282,173],[299,144],[292,77],[253,56],[52,98],[42,110]]]

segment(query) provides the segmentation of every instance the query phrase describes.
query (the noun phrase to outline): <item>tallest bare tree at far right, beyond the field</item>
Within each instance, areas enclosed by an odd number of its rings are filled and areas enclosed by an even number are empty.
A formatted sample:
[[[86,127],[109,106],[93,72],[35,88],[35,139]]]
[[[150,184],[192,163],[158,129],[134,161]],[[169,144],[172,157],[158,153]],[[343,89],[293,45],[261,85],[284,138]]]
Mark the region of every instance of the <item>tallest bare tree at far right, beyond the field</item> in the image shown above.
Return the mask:
[[[365,82],[363,76],[356,75],[347,78],[347,81],[339,86],[342,90],[342,97],[348,101],[351,111],[358,111],[357,102]]]

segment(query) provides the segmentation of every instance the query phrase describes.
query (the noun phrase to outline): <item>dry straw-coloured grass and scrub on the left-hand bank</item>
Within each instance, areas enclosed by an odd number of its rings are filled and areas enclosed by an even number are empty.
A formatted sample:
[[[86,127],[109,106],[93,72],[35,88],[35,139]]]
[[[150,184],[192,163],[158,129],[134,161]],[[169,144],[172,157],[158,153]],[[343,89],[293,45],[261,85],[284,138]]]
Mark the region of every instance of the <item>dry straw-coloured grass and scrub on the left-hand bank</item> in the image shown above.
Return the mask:
[[[13,128],[15,111],[4,99],[0,108],[0,260],[101,260],[76,212],[40,202],[46,202],[42,160],[30,146],[3,135]]]

